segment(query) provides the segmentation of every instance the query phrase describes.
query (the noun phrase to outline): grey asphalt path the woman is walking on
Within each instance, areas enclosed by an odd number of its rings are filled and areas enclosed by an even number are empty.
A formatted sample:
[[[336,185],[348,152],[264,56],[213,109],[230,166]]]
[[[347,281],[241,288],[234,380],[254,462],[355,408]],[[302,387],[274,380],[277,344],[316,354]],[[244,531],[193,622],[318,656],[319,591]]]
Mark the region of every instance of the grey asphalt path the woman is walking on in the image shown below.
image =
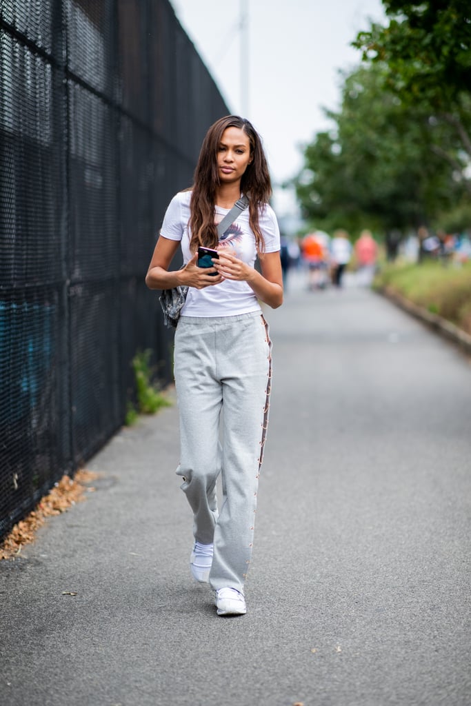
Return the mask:
[[[2,706],[471,703],[470,361],[371,292],[290,285],[248,614],[189,578],[165,409],[0,563]]]

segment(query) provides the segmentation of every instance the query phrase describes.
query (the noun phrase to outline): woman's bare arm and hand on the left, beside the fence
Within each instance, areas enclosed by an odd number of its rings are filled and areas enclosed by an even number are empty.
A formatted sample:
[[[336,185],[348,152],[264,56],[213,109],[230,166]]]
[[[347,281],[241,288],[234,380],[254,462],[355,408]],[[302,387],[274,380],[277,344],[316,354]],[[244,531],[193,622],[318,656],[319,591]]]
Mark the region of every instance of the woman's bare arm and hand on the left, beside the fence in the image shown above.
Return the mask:
[[[222,282],[220,275],[208,275],[208,270],[198,268],[196,265],[197,254],[186,263],[182,270],[168,272],[179,244],[180,241],[178,240],[170,240],[162,235],[159,237],[150,261],[148,273],[145,275],[145,284],[149,289],[172,289],[172,287],[178,287],[179,285],[203,289],[203,287],[210,287],[211,285],[217,285],[217,282]]]

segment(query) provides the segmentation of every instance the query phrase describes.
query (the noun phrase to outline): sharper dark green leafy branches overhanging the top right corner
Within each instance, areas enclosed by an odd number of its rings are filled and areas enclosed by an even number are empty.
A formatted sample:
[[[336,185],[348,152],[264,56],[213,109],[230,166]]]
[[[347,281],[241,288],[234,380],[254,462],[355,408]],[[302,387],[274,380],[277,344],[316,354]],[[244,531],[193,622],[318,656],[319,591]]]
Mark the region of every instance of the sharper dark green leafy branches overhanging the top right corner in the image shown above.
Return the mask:
[[[383,0],[389,24],[359,32],[355,47],[384,68],[384,85],[419,107],[429,149],[471,193],[471,4],[469,0]],[[443,125],[453,139],[444,147]]]

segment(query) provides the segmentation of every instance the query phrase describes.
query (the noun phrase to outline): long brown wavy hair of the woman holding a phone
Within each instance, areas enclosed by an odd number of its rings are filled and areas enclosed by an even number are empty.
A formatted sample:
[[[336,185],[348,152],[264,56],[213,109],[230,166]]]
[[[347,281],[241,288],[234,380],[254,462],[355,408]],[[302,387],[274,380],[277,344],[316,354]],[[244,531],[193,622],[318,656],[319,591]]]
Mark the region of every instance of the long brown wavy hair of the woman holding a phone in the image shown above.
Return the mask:
[[[220,185],[217,169],[217,152],[222,133],[227,128],[240,128],[249,138],[252,160],[242,175],[241,191],[249,198],[249,223],[255,234],[258,253],[265,247],[263,234],[258,225],[258,214],[266,208],[272,188],[270,173],[262,141],[254,126],[238,115],[227,115],[210,126],[201,145],[190,201],[189,228],[191,230],[190,250],[195,252],[199,245],[215,248],[219,242],[215,225],[216,189]]]

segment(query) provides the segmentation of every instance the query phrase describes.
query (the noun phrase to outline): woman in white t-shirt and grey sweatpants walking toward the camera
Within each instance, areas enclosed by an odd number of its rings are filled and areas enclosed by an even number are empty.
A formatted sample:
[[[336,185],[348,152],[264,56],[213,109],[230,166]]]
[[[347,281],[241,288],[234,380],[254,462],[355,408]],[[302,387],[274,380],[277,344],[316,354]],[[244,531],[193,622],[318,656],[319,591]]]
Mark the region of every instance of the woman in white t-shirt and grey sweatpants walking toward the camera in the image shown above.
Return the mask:
[[[175,332],[177,474],[193,510],[191,573],[209,582],[221,616],[246,613],[271,385],[271,342],[259,301],[275,309],[283,299],[270,195],[254,127],[239,116],[216,121],[203,140],[193,187],[169,203],[145,280],[150,289],[189,287]],[[242,196],[248,208],[218,237],[217,223]],[[169,272],[180,245],[184,268]],[[217,250],[213,267],[198,267],[199,246]]]

